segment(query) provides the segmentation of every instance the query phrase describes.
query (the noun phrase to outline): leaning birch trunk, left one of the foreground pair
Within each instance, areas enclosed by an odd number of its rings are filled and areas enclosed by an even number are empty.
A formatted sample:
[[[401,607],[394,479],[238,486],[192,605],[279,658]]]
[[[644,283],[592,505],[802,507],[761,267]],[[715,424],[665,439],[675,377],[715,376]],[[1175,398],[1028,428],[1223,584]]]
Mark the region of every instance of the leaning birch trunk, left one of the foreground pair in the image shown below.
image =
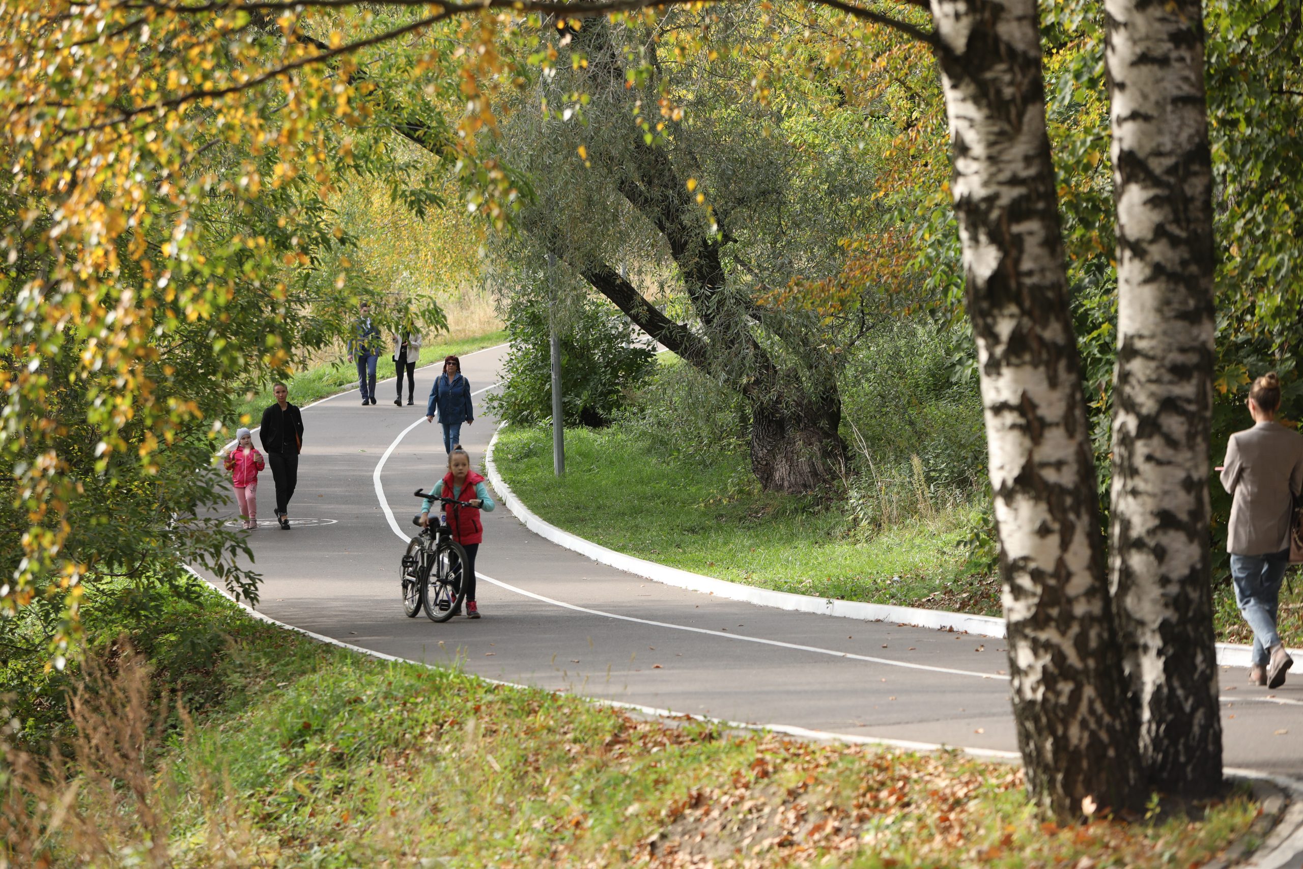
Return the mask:
[[[1063,818],[1143,801],[1045,132],[1035,0],[932,0],[1019,748]]]

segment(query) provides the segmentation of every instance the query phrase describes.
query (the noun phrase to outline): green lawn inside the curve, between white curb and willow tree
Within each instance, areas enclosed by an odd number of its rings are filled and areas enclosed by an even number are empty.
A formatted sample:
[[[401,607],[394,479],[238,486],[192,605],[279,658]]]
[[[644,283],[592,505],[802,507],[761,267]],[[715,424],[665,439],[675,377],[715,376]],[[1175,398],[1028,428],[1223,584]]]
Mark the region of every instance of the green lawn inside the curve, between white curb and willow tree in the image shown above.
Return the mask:
[[[620,426],[567,431],[562,479],[545,429],[508,426],[494,459],[532,511],[620,552],[780,591],[999,612],[998,588],[964,573],[967,508],[865,538],[840,504],[756,491],[745,456],[672,456]]]

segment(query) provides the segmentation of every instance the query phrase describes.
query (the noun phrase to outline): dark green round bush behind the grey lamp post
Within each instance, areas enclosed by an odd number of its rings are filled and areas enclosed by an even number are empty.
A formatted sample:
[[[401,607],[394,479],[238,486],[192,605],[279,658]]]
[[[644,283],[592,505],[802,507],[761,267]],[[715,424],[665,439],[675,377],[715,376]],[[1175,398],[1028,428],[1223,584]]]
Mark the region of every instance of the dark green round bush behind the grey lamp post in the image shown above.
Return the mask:
[[[506,380],[489,409],[513,425],[552,417],[552,367],[546,302],[516,296],[507,306],[511,352]],[[609,425],[632,390],[655,367],[641,332],[610,302],[590,296],[575,306],[562,332],[562,408],[566,425]]]

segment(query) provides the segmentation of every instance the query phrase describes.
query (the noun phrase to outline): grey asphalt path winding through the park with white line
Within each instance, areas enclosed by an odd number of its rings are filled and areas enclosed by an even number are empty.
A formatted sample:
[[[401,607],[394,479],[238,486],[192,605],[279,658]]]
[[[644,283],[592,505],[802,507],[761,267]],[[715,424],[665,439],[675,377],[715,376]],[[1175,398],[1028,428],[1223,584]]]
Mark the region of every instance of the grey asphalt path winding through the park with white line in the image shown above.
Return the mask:
[[[476,466],[496,426],[483,397],[504,354],[500,347],[461,357],[478,392],[476,422],[461,429]],[[420,391],[429,392],[437,371],[417,371]],[[305,408],[294,528],[265,519],[250,533],[265,615],[365,649],[584,697],[853,741],[1016,750],[1003,640],[670,588],[539,538],[500,502],[483,515],[483,618],[408,619],[399,559],[416,533],[412,492],[435,485],[447,457],[440,426],[425,422],[425,395],[395,406],[392,378],[378,392],[375,405],[362,406],[353,391]],[[268,516],[270,473],[259,490]],[[636,494],[609,494],[624,496]],[[1276,692],[1248,687],[1239,668],[1221,677],[1227,767],[1303,775],[1303,672]]]

